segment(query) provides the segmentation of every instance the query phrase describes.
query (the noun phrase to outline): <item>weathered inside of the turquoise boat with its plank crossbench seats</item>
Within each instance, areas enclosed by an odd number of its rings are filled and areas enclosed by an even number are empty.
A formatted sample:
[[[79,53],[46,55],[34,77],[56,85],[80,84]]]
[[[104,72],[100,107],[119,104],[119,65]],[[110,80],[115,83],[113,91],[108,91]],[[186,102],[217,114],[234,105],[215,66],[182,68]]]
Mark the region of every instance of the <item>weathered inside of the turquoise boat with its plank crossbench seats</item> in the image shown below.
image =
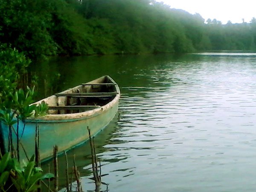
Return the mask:
[[[111,102],[116,94],[119,94],[116,83],[104,76],[43,100],[49,105],[49,114],[68,114],[100,108]]]

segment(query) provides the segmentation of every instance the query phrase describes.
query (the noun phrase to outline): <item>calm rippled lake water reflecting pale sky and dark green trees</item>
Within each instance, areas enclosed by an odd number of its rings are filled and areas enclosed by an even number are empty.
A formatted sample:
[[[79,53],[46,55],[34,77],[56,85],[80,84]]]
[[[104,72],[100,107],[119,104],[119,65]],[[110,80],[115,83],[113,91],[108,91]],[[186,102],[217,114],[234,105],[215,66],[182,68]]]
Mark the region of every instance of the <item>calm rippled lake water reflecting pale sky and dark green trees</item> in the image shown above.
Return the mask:
[[[119,84],[119,112],[95,140],[109,192],[256,190],[256,54],[52,58],[34,70],[39,97],[105,74]],[[88,143],[73,154],[93,190]]]

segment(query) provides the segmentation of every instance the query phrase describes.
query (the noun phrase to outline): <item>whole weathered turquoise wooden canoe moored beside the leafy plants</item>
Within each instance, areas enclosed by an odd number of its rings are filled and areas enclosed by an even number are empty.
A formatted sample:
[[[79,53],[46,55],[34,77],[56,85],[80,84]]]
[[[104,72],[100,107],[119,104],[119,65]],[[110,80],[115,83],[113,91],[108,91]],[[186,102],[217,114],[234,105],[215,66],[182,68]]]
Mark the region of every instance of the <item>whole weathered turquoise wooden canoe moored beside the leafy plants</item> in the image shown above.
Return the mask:
[[[110,76],[102,76],[33,103],[47,103],[49,114],[20,121],[19,136],[23,132],[20,142],[27,156],[35,154],[36,126],[39,130],[40,157],[44,161],[52,157],[54,145],[58,146],[61,153],[88,140],[87,127],[90,128],[92,136],[105,128],[118,110],[119,97],[120,90],[116,82]],[[8,128],[0,123],[2,152],[8,151],[8,135]],[[13,141],[16,146],[15,135]],[[21,147],[20,159],[26,160]]]

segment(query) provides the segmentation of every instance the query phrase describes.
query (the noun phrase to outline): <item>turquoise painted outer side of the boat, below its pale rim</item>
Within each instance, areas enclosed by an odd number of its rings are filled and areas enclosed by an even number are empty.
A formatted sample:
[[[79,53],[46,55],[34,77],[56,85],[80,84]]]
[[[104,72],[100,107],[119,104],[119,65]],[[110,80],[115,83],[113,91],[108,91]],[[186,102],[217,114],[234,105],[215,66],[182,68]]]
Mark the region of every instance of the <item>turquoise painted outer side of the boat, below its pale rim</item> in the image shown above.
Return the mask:
[[[28,157],[35,154],[35,127],[39,129],[39,151],[41,160],[47,160],[52,157],[53,146],[58,145],[58,151],[67,151],[89,139],[87,127],[90,128],[91,135],[95,136],[113,119],[118,110],[118,103],[113,105],[107,111],[97,113],[94,116],[84,117],[75,120],[59,120],[59,121],[42,121],[25,122],[23,137],[20,142],[23,144]],[[23,122],[19,123],[19,136],[23,131]],[[8,151],[8,135],[9,129],[6,125],[1,124],[3,145],[5,151]],[[14,125],[16,130],[17,124]],[[16,135],[13,133],[14,146],[16,148]],[[25,153],[20,147],[21,160],[26,160]]]

